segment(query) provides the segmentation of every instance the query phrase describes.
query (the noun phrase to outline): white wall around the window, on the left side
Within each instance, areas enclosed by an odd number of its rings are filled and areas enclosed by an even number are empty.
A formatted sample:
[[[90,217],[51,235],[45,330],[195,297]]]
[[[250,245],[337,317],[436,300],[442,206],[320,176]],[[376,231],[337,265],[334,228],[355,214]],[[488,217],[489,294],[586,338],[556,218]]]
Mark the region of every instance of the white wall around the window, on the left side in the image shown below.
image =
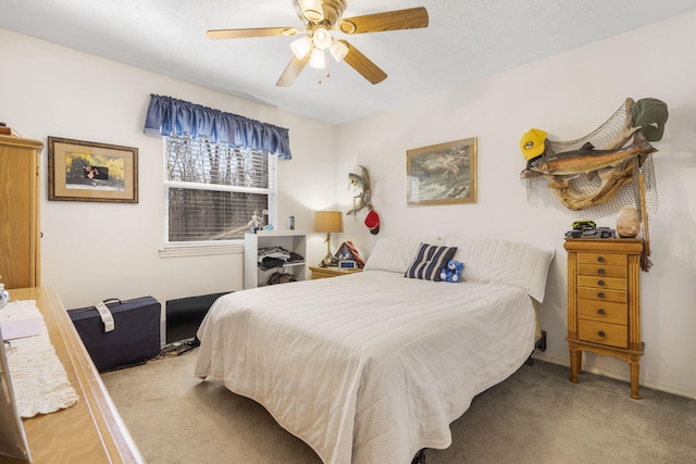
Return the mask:
[[[139,203],[48,201],[41,172],[42,285],[66,308],[109,297],[169,299],[239,290],[237,254],[166,258],[163,246],[162,139],[142,131],[150,93],[216,108],[287,127],[291,161],[278,161],[278,225],[296,216],[312,230],[313,212],[332,208],[335,127],[46,41],[0,29],[0,121],[23,137],[99,141],[139,150]],[[328,155],[327,155],[328,154]],[[321,236],[309,235],[308,259],[321,260]]]

